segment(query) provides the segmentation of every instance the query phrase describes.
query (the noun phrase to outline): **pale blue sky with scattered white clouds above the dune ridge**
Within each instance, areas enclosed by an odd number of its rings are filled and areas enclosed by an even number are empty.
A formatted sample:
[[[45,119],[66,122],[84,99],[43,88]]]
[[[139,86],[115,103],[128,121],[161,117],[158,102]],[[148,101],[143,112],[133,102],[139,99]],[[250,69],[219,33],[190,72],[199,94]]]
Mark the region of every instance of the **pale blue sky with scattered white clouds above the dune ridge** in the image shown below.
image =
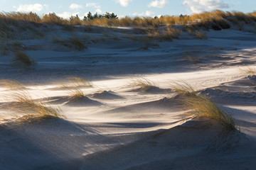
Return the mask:
[[[80,18],[91,13],[113,12],[124,16],[178,16],[180,14],[200,13],[203,11],[242,11],[256,10],[255,0],[0,0],[1,12],[56,13],[63,18],[78,14]]]

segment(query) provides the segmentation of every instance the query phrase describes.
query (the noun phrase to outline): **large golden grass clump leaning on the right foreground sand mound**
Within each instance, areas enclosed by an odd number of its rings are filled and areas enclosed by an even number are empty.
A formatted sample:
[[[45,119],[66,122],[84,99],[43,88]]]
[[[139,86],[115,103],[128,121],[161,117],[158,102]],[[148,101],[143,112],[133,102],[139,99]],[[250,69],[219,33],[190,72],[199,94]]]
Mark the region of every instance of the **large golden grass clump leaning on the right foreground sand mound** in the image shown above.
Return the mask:
[[[235,130],[235,119],[232,115],[220,109],[205,96],[189,96],[184,99],[185,107],[196,116],[218,120],[227,131]]]

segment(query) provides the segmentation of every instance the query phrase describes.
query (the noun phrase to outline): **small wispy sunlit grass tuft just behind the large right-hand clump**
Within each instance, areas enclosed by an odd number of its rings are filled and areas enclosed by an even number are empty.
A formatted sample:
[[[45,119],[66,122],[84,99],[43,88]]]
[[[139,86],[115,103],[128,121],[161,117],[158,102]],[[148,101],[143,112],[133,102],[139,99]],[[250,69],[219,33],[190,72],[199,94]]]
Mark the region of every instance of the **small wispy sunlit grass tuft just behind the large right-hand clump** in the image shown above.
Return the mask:
[[[172,86],[172,89],[183,96],[196,96],[196,91],[186,81],[179,81],[178,83],[175,83]]]

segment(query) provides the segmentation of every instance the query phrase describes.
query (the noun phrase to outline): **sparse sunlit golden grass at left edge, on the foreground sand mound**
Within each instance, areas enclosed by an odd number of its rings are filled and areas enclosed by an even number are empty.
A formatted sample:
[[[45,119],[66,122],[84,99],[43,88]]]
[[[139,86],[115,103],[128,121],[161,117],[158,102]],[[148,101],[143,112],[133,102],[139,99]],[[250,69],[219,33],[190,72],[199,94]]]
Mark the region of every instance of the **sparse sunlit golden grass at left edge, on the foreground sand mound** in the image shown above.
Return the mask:
[[[1,80],[0,84],[4,84],[4,86],[11,89],[11,94],[6,96],[6,100],[9,101],[7,108],[18,114],[25,115],[25,118],[64,117],[60,109],[46,106],[40,99],[34,100],[20,82]]]

